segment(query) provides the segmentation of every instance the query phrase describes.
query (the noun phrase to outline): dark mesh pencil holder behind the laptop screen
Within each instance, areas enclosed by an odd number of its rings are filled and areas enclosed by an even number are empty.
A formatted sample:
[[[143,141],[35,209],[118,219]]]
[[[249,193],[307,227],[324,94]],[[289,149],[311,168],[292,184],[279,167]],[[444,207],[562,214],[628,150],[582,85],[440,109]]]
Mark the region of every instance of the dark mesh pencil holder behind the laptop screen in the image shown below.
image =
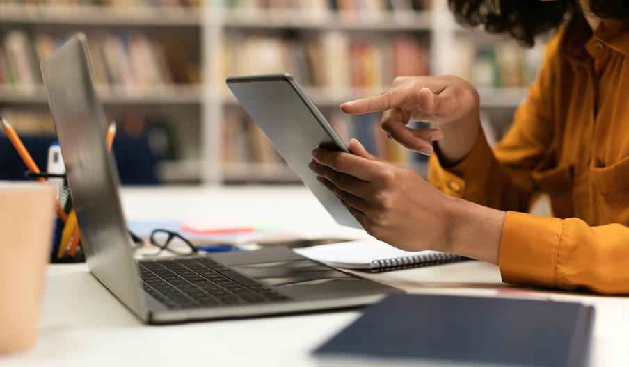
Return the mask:
[[[57,203],[61,206],[58,209],[58,215],[55,220],[55,228],[52,240],[52,248],[50,252],[51,263],[82,263],[85,262],[85,254],[81,246],[81,234],[77,222],[77,215],[74,212],[72,204],[72,196],[70,188],[64,174],[40,174],[26,173],[29,179],[45,178],[49,185],[56,189]],[[59,214],[60,211],[65,213],[65,222]]]

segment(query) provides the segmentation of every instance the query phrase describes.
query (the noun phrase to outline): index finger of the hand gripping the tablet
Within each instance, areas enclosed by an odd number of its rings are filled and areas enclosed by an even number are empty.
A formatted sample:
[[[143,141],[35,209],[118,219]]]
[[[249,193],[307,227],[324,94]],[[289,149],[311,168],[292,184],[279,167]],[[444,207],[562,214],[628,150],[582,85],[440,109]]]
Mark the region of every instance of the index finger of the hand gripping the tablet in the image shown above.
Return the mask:
[[[328,149],[314,149],[312,158],[321,165],[325,165],[337,172],[349,174],[363,181],[372,181],[380,172],[379,161],[373,161],[356,154],[335,152]]]

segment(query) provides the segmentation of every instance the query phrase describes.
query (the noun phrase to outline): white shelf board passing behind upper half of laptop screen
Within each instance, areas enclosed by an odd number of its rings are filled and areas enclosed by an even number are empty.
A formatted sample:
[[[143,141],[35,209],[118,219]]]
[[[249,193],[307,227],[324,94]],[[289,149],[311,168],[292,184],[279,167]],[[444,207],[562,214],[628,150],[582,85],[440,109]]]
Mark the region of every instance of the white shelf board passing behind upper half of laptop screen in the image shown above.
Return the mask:
[[[200,85],[155,85],[129,88],[109,86],[99,88],[103,104],[200,104]],[[0,85],[0,102],[5,104],[47,104],[42,85]]]

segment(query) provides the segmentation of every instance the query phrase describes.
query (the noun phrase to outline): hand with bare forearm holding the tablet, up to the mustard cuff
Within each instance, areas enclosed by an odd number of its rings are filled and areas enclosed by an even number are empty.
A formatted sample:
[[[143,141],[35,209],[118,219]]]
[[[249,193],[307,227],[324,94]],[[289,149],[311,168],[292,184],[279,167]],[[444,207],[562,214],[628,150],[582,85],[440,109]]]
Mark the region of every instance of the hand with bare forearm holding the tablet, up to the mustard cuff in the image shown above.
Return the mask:
[[[369,154],[315,149],[308,167],[372,236],[401,250],[497,262],[504,212],[444,195],[415,171]]]

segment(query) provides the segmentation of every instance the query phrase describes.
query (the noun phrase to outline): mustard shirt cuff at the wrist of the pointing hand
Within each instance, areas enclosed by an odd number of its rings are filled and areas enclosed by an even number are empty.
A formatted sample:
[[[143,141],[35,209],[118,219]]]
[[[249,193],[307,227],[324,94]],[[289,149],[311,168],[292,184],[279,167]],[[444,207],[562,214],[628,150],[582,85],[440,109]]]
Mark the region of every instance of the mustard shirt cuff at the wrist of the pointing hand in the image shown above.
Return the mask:
[[[441,164],[438,144],[434,147],[435,154],[429,158],[428,180],[446,195],[463,197],[475,191],[475,182],[482,183],[488,177],[493,152],[482,130],[468,155],[452,167]]]

